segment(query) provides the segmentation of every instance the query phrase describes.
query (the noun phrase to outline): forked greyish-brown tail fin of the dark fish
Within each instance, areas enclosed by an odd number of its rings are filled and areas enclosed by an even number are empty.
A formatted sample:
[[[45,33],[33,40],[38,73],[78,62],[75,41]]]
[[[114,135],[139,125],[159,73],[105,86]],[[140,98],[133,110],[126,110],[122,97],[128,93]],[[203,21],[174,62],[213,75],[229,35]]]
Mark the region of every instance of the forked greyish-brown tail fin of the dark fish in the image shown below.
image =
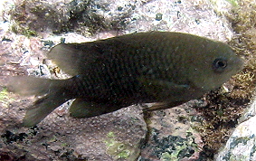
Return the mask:
[[[72,99],[67,91],[68,80],[48,80],[33,77],[5,77],[1,79],[8,90],[21,95],[36,95],[43,98],[36,100],[27,110],[24,126],[33,127],[65,101]],[[1,81],[0,81],[1,82]]]

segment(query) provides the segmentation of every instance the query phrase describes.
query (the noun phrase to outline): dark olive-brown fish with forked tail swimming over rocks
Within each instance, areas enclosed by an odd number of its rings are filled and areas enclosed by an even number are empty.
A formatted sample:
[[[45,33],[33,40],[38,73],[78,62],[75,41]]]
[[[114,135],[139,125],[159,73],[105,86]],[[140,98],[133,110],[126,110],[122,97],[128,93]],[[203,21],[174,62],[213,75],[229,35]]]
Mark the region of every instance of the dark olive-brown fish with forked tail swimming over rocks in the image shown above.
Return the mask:
[[[48,53],[65,80],[5,76],[4,86],[34,95],[23,125],[33,127],[74,99],[73,118],[90,118],[130,105],[169,109],[215,90],[242,69],[243,61],[219,41],[189,33],[131,33],[88,43],[60,43]]]

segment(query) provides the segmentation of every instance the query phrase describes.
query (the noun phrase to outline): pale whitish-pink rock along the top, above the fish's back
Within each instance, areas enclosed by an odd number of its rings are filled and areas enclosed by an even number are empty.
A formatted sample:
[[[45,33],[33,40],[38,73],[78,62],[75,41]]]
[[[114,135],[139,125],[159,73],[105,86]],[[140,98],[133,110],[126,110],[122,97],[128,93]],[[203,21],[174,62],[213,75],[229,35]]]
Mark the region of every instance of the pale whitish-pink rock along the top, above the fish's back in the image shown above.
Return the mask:
[[[229,3],[223,3],[225,5],[220,6],[225,10],[231,8]],[[18,0],[3,4],[6,7],[3,12],[5,20],[14,23],[12,30],[15,33],[24,35],[42,32],[90,35],[100,32],[173,31],[206,35],[219,41],[231,39],[233,35],[229,24],[214,13],[212,4],[207,1]]]

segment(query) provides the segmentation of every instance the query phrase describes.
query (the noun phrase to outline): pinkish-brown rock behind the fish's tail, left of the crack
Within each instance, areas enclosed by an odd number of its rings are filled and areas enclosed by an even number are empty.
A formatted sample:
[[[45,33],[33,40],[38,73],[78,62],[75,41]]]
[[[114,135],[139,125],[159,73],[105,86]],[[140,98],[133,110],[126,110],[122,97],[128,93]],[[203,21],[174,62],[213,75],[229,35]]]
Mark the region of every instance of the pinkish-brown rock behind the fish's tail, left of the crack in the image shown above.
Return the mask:
[[[51,72],[49,70],[51,64],[43,63],[51,43],[14,33],[4,34],[0,35],[0,39],[5,36],[12,41],[1,44],[1,58],[5,64],[1,66],[2,75],[66,77],[63,74],[52,75],[53,68]],[[49,39],[56,44],[60,43],[61,37]],[[75,33],[63,37],[71,42],[86,40]],[[21,40],[23,43],[19,43]],[[19,125],[24,118],[25,109],[35,99],[18,97],[3,88],[0,90],[0,153],[8,155],[5,157],[23,157],[25,160],[135,160],[139,155],[139,147],[147,133],[139,107],[121,109],[96,118],[74,119],[69,117],[69,103],[66,103],[45,118],[38,128],[28,129]]]

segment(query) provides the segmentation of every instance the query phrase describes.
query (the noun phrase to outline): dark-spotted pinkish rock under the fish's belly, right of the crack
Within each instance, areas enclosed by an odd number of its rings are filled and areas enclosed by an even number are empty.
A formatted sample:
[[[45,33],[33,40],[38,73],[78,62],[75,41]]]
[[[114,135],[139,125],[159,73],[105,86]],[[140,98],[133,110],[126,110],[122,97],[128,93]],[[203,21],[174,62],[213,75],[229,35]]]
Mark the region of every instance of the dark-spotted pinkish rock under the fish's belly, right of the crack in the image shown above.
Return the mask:
[[[147,143],[141,149],[140,160],[196,160],[204,147],[200,134],[193,128],[195,109],[188,104],[159,110],[146,118]]]

